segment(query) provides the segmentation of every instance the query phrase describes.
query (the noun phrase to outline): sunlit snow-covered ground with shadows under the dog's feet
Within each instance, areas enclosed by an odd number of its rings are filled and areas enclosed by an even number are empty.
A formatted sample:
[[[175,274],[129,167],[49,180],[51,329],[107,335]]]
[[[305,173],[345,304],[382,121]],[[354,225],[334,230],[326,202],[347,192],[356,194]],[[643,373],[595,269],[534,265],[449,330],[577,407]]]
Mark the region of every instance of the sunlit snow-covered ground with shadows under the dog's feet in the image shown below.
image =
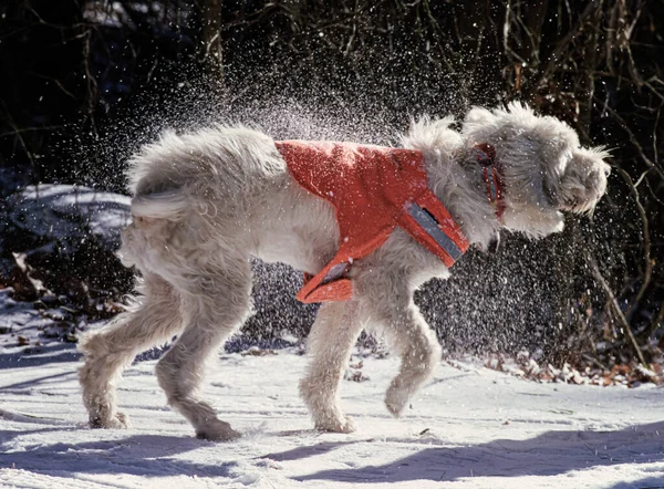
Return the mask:
[[[539,384],[442,363],[393,419],[382,396],[397,362],[369,356],[369,379],[343,382],[357,433],[320,434],[298,397],[297,348],[221,354],[206,393],[243,437],[215,444],[165,406],[154,360],[121,384],[133,427],[89,429],[74,346],[40,350],[0,353],[0,487],[664,487],[664,392],[652,385]]]

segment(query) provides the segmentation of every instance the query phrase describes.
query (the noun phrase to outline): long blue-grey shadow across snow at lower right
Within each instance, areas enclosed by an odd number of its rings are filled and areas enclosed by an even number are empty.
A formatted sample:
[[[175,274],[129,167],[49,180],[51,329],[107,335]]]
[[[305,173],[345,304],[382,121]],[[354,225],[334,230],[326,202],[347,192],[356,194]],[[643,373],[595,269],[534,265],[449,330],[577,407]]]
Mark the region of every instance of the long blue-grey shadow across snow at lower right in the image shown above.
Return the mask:
[[[340,445],[344,444],[322,443],[266,457],[274,460],[310,458]],[[351,483],[454,481],[481,476],[557,476],[592,467],[656,461],[664,461],[664,423],[635,425],[618,431],[556,430],[523,440],[436,445],[380,466],[321,470],[294,479]],[[644,476],[647,487],[664,488],[664,480]],[[618,485],[615,489],[627,486]]]

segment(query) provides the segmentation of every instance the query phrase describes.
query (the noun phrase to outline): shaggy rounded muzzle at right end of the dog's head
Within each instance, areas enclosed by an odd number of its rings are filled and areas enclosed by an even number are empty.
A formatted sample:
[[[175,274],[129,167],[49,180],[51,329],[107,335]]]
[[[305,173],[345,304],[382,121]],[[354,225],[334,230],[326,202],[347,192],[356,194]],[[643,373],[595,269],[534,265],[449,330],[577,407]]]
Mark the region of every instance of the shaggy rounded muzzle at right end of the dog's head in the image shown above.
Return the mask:
[[[569,160],[556,200],[561,210],[591,212],[606,191],[611,167],[604,163],[609,153],[602,148],[578,148]]]

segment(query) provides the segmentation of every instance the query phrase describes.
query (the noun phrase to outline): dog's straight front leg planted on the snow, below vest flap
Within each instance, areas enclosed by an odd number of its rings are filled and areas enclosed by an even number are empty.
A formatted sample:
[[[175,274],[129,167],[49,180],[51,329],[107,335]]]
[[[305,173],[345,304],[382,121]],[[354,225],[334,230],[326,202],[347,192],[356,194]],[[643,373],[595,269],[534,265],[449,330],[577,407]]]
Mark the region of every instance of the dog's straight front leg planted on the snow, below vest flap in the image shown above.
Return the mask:
[[[339,386],[361,330],[356,302],[321,305],[307,340],[313,361],[307,376],[300,382],[300,394],[317,429],[334,433],[355,430],[352,419],[343,414],[339,405]]]

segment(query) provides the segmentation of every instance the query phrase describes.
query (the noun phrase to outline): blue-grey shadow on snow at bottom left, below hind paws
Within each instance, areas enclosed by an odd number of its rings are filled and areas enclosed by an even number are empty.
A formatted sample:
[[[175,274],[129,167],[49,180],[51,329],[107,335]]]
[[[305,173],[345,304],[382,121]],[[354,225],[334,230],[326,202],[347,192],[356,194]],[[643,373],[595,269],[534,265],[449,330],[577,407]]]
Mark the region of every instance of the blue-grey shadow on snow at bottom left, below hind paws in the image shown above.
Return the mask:
[[[0,467],[15,467],[63,477],[72,474],[126,474],[141,477],[231,477],[236,462],[197,464],[178,458],[187,451],[215,447],[190,436],[134,435],[116,440],[55,443],[0,452]],[[1,449],[0,449],[1,451]]]

